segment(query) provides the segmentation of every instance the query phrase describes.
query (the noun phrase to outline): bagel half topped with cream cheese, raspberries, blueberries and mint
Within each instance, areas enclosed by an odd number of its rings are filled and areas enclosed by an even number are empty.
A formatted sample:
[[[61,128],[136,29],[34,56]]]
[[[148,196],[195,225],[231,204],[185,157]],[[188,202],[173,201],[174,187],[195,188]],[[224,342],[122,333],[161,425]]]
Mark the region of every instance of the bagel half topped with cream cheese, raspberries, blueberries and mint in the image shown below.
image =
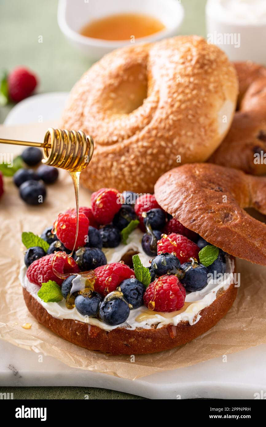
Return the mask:
[[[38,322],[90,350],[143,354],[183,345],[227,313],[237,294],[231,255],[152,194],[102,188],[91,202],[79,209],[72,256],[73,209],[41,237],[23,233],[20,281]]]

